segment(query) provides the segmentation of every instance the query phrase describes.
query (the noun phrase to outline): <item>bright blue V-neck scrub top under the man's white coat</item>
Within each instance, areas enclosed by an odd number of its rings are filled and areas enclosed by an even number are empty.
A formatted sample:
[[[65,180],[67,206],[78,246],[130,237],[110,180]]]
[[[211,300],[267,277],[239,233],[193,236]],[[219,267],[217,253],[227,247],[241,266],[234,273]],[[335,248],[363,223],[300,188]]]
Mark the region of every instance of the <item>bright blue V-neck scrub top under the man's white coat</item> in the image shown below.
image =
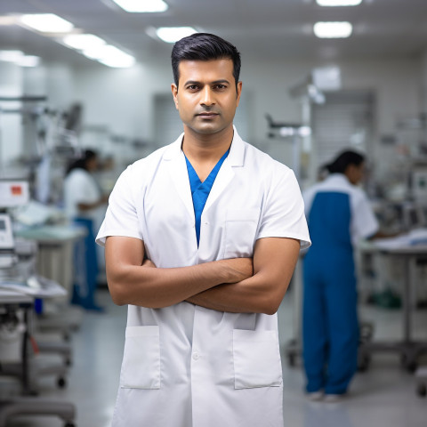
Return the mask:
[[[214,185],[216,175],[220,171],[222,163],[229,155],[229,152],[230,149],[224,153],[218,163],[214,166],[214,169],[209,173],[209,176],[203,182],[198,178],[194,167],[189,163],[189,159],[185,157],[185,161],[187,162],[187,171],[189,172],[189,186],[191,188],[191,196],[193,197],[194,216],[196,219],[197,247],[200,240],[200,220],[202,218],[202,212],[205,207],[207,197]]]

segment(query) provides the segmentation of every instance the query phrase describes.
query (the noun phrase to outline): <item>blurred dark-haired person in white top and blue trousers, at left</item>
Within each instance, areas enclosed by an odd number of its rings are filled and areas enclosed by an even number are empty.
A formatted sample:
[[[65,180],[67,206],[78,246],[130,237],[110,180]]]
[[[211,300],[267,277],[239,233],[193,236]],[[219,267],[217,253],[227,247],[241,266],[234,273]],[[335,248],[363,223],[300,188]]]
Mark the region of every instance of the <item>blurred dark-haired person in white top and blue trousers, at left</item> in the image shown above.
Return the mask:
[[[86,230],[84,256],[84,286],[74,287],[72,302],[86,310],[102,310],[95,301],[99,262],[94,236],[98,232],[109,196],[102,193],[93,173],[98,170],[98,154],[86,149],[82,157],[68,166],[64,182],[64,205],[70,220]],[[78,259],[78,246],[76,258]],[[78,262],[77,262],[78,264]]]

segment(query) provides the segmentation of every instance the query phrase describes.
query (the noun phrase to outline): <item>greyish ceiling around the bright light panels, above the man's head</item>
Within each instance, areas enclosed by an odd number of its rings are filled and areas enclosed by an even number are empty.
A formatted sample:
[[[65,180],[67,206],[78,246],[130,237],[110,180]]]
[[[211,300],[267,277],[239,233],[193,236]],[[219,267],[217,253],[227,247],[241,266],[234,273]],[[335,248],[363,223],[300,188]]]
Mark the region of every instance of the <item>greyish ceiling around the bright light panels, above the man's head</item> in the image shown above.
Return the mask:
[[[165,0],[165,13],[127,13],[112,0],[0,0],[0,15],[56,13],[85,32],[101,36],[137,60],[169,55],[149,27],[190,25],[223,36],[245,56],[286,58],[414,58],[427,50],[427,0],[364,0],[355,7],[320,7],[315,0]],[[318,20],[349,20],[349,39],[321,40]],[[44,60],[88,64],[83,56],[27,29],[0,26],[0,49],[20,49]]]

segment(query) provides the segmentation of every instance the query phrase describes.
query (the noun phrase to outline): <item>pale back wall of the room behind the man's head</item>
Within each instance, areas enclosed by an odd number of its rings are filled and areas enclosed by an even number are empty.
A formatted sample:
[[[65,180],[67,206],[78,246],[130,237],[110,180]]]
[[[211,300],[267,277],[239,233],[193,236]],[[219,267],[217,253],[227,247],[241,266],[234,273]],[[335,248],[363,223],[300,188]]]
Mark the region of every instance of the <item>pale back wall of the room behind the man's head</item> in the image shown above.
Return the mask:
[[[422,109],[423,87],[427,86],[427,53],[418,59],[346,60],[334,64],[342,69],[342,89],[372,90],[376,96],[375,157],[394,155],[390,147],[379,143],[384,134],[396,133],[399,117],[415,116]],[[322,66],[315,61],[275,60],[259,61],[243,57],[241,79],[250,96],[250,142],[274,152],[275,157],[291,164],[291,148],[267,137],[264,117],[270,113],[278,121],[300,122],[302,105],[294,100],[289,89],[309,76],[312,68]],[[49,106],[66,109],[74,101],[84,104],[85,125],[97,126],[98,131],[85,133],[85,145],[123,157],[140,157],[146,150],[129,145],[114,144],[109,135],[154,140],[152,101],[157,93],[170,93],[172,70],[169,58],[150,58],[133,68],[108,68],[91,63],[86,68],[67,68],[61,64],[47,64],[23,71],[0,68],[0,85],[9,91],[46,94]],[[18,119],[19,120],[19,119]],[[9,125],[6,127],[10,127]],[[19,126],[14,125],[14,139],[19,139]],[[101,129],[104,131],[101,132]],[[10,130],[3,132],[9,133]],[[177,129],[177,134],[181,129]],[[9,138],[9,137],[8,137]],[[4,156],[18,154],[20,144],[7,149]],[[125,158],[125,160],[126,160]]]

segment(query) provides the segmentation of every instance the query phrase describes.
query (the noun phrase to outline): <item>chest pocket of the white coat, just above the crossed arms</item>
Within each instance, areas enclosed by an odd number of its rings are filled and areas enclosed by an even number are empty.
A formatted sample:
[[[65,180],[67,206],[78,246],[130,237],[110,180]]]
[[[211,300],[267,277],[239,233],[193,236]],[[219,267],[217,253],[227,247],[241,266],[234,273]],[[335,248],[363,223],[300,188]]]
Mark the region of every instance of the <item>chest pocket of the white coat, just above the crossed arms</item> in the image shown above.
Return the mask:
[[[225,220],[224,258],[250,257],[254,254],[254,241],[260,210],[228,209]]]

